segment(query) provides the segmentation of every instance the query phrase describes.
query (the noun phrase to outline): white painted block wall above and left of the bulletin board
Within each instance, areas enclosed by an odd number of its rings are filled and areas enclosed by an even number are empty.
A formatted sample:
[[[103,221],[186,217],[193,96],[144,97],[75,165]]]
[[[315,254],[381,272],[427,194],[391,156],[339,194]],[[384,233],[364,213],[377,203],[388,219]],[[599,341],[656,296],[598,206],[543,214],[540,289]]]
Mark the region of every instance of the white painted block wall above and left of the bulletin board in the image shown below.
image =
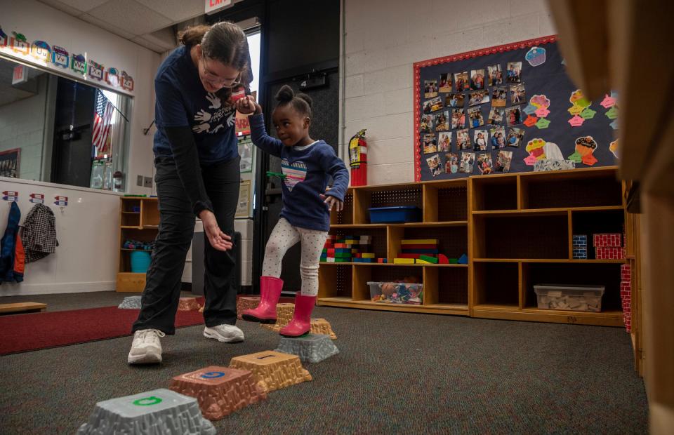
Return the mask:
[[[370,185],[414,181],[414,62],[556,33],[546,0],[344,0],[343,7],[341,145],[367,128]]]

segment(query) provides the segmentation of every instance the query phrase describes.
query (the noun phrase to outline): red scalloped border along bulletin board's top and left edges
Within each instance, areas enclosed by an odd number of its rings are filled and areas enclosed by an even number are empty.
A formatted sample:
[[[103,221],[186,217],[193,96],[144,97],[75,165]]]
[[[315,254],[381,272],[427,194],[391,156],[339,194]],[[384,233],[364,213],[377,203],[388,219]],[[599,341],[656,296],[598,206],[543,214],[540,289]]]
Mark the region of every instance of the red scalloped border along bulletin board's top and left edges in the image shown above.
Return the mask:
[[[421,181],[421,152],[419,149],[419,122],[421,119],[421,68],[430,67],[432,65],[440,65],[447,62],[455,62],[456,60],[463,60],[468,58],[478,58],[484,55],[491,55],[494,53],[503,53],[505,51],[519,50],[520,48],[527,48],[538,46],[541,44],[550,44],[558,41],[557,35],[543,36],[536,39],[527,39],[526,41],[512,42],[510,44],[503,44],[501,46],[493,46],[489,48],[480,48],[479,50],[466,51],[465,53],[458,53],[455,55],[444,56],[442,58],[434,58],[428,60],[421,60],[414,62],[414,181]]]

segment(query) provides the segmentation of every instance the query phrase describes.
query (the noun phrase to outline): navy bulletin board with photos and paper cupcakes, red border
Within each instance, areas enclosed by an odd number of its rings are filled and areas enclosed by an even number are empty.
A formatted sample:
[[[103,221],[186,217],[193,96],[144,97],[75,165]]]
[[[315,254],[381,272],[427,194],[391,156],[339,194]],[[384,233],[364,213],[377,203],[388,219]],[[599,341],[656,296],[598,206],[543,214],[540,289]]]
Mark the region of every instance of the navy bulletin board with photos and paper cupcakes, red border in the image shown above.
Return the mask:
[[[612,166],[617,98],[583,96],[556,36],[416,62],[415,180]]]

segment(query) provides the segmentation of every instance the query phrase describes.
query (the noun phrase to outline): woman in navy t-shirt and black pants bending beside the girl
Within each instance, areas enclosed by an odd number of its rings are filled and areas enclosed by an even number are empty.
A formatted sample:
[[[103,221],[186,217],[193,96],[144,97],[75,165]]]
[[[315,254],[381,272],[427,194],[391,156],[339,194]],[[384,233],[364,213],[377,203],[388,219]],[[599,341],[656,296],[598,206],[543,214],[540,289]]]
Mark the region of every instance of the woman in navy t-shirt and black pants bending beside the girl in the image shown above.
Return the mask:
[[[239,156],[232,90],[253,77],[246,34],[230,22],[190,27],[154,78],[154,166],[159,234],[128,363],[160,363],[159,337],[175,333],[180,277],[201,218],[205,243],[204,336],[240,342],[232,286],[232,245],[239,198]]]

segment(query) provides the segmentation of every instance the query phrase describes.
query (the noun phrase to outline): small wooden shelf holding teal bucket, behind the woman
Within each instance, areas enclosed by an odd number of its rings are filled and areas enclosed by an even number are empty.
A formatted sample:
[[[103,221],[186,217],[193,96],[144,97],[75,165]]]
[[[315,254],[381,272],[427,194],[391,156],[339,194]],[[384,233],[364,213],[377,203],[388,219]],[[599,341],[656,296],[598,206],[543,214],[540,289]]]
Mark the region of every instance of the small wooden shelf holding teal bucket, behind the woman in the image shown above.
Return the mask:
[[[138,211],[134,209],[138,208]],[[131,252],[125,249],[124,241],[153,241],[159,229],[159,208],[157,198],[122,196],[119,211],[119,267],[117,269],[118,292],[142,292],[145,288],[145,274],[131,272]],[[147,250],[145,250],[147,252]]]

